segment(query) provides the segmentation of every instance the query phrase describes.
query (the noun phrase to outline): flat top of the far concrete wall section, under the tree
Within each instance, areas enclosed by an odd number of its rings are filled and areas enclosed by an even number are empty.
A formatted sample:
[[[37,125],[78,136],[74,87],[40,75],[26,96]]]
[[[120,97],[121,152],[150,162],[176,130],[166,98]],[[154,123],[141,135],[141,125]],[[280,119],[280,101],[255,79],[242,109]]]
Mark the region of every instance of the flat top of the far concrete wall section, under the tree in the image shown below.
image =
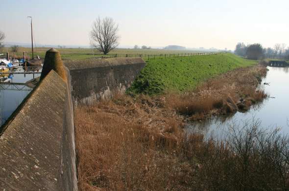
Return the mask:
[[[107,66],[120,66],[131,64],[145,64],[142,58],[103,58],[103,59],[86,59],[86,60],[69,60],[65,61],[65,66],[69,70],[100,68]]]

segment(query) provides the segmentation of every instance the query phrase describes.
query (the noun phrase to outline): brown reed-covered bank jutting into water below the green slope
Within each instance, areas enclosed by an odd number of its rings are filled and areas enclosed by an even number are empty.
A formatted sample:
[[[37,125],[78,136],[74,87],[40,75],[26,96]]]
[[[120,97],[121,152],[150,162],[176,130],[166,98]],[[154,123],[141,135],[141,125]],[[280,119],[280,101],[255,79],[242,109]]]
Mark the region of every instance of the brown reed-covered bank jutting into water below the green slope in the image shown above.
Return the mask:
[[[185,120],[245,112],[267,96],[259,88],[266,72],[263,65],[230,71],[209,79],[192,92],[168,94],[163,98],[163,104],[184,116]]]

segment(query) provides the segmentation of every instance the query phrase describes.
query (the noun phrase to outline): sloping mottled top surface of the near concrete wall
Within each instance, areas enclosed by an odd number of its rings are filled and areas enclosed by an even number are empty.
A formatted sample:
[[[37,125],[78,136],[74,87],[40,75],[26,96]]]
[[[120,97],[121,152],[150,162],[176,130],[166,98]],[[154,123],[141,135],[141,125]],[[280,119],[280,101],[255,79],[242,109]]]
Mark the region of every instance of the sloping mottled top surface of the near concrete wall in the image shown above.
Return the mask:
[[[51,71],[3,126],[0,135],[0,190],[55,191],[66,84]]]

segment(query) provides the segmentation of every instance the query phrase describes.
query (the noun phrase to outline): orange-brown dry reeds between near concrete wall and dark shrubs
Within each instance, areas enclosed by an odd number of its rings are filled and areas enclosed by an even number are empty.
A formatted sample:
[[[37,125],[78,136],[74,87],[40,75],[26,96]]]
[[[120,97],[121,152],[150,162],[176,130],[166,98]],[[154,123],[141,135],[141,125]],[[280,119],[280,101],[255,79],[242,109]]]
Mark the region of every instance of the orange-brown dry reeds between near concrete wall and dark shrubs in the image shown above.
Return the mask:
[[[167,155],[183,136],[181,118],[167,118],[139,99],[143,103],[123,96],[76,110],[80,190],[163,190],[182,180],[175,174],[182,164]]]

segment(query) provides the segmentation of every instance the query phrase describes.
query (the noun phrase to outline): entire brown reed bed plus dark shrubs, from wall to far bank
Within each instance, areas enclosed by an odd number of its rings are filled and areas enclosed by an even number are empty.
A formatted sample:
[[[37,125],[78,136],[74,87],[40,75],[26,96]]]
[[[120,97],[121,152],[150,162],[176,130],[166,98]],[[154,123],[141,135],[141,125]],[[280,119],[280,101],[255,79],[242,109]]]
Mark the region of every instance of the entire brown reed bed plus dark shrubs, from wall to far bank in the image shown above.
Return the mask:
[[[268,134],[256,133],[258,125],[246,124],[246,134],[235,133],[231,140],[219,142],[206,141],[198,134],[186,135],[182,128],[184,115],[194,114],[193,120],[200,119],[222,108],[228,96],[236,102],[240,98],[249,101],[250,97],[251,102],[261,100],[264,93],[256,91],[258,80],[250,76],[261,75],[263,69],[251,70],[240,69],[239,75],[233,72],[220,76],[219,81],[208,80],[185,95],[156,98],[121,95],[76,108],[79,190],[288,189],[288,171],[280,171],[282,167],[288,168],[288,160],[280,153],[288,154],[289,145],[276,144],[278,140],[289,143],[287,139],[278,136],[269,139],[265,136]],[[252,139],[239,139],[248,135]],[[274,147],[266,144],[268,140]],[[246,150],[248,145],[250,150]],[[279,155],[274,152],[276,148]],[[271,160],[270,156],[275,158]],[[274,166],[266,170],[271,163]]]

